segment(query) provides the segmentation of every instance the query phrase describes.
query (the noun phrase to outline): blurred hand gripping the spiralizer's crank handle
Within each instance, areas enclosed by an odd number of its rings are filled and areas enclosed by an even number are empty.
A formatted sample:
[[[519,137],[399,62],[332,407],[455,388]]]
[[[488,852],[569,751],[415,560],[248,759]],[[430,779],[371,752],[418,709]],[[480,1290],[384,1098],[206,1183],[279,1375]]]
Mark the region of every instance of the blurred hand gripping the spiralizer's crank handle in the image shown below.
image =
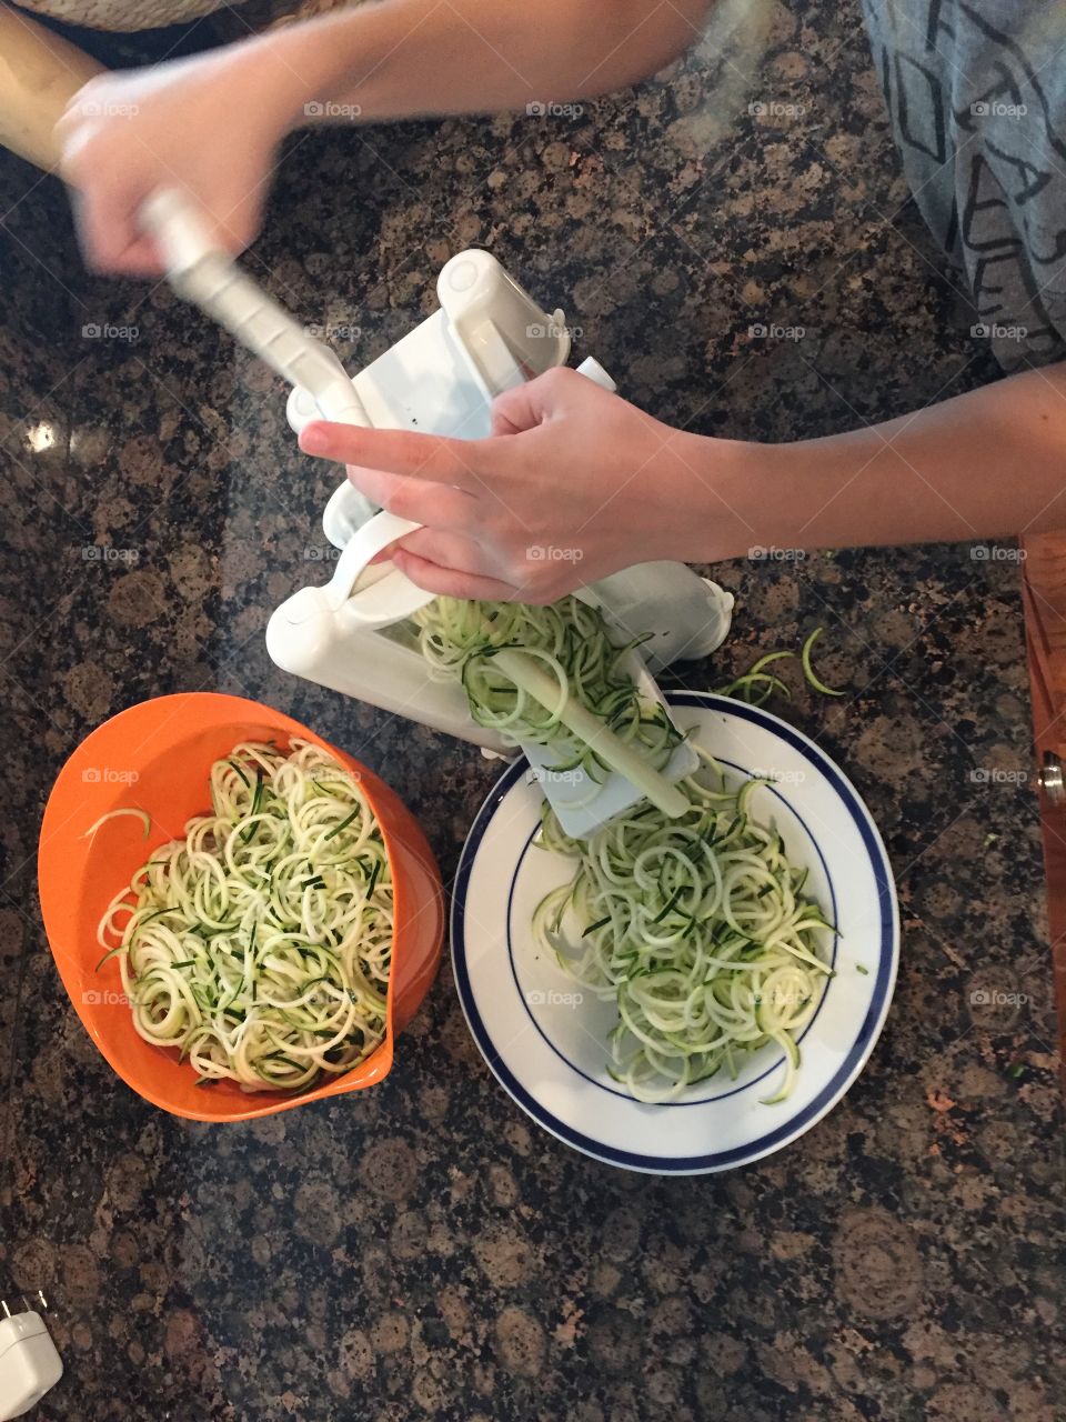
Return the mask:
[[[247,246],[286,128],[260,63],[250,50],[220,50],[101,75],[74,95],[55,132],[90,266],[162,272],[138,228],[138,210],[162,186],[190,193],[229,252]]]

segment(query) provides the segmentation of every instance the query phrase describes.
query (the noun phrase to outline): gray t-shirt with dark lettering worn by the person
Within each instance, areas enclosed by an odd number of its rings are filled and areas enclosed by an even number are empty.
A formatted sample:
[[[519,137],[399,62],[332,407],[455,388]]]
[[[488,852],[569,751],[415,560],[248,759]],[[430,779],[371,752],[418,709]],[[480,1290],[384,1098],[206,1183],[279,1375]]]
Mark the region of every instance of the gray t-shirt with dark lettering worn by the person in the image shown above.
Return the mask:
[[[1066,358],[1066,0],[861,3],[911,192],[996,360]]]

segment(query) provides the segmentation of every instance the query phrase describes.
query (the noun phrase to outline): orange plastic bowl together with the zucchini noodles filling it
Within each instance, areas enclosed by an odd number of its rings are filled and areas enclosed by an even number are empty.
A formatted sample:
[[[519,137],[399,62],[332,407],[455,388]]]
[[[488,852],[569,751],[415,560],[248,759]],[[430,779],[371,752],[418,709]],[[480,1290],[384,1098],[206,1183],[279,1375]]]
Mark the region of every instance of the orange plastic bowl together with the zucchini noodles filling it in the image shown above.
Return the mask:
[[[379,1082],[443,939],[436,863],[398,796],[290,717],[216,693],[141,702],[82,741],[38,882],[101,1055],[196,1121]]]

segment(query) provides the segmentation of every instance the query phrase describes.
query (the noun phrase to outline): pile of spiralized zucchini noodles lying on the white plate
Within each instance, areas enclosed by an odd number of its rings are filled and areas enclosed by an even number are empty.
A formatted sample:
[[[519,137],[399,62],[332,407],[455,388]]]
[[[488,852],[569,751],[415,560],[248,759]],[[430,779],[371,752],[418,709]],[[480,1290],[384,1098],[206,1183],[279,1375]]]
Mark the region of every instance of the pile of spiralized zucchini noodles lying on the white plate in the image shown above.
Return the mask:
[[[795,1085],[796,1037],[831,975],[820,939],[836,930],[803,896],[807,870],[749,812],[766,782],[733,791],[701,758],[714,784],[705,768],[681,781],[689,808],[677,819],[645,803],[574,840],[544,806],[539,846],[577,867],[537,906],[533,934],[617,1003],[607,1069],[638,1101],[674,1101],[722,1069],[736,1078],[749,1052],[773,1044],[785,1081],[769,1105]]]

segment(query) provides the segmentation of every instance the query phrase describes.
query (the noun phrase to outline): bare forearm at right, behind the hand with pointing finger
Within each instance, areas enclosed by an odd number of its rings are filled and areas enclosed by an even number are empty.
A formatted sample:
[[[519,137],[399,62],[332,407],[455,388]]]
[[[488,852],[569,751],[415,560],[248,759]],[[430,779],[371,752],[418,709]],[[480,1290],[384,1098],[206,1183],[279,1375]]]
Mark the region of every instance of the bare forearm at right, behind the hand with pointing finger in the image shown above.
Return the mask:
[[[685,451],[704,547],[678,556],[951,542],[1062,526],[1066,365],[881,425],[785,445],[731,444],[722,455],[718,441],[698,438]]]

